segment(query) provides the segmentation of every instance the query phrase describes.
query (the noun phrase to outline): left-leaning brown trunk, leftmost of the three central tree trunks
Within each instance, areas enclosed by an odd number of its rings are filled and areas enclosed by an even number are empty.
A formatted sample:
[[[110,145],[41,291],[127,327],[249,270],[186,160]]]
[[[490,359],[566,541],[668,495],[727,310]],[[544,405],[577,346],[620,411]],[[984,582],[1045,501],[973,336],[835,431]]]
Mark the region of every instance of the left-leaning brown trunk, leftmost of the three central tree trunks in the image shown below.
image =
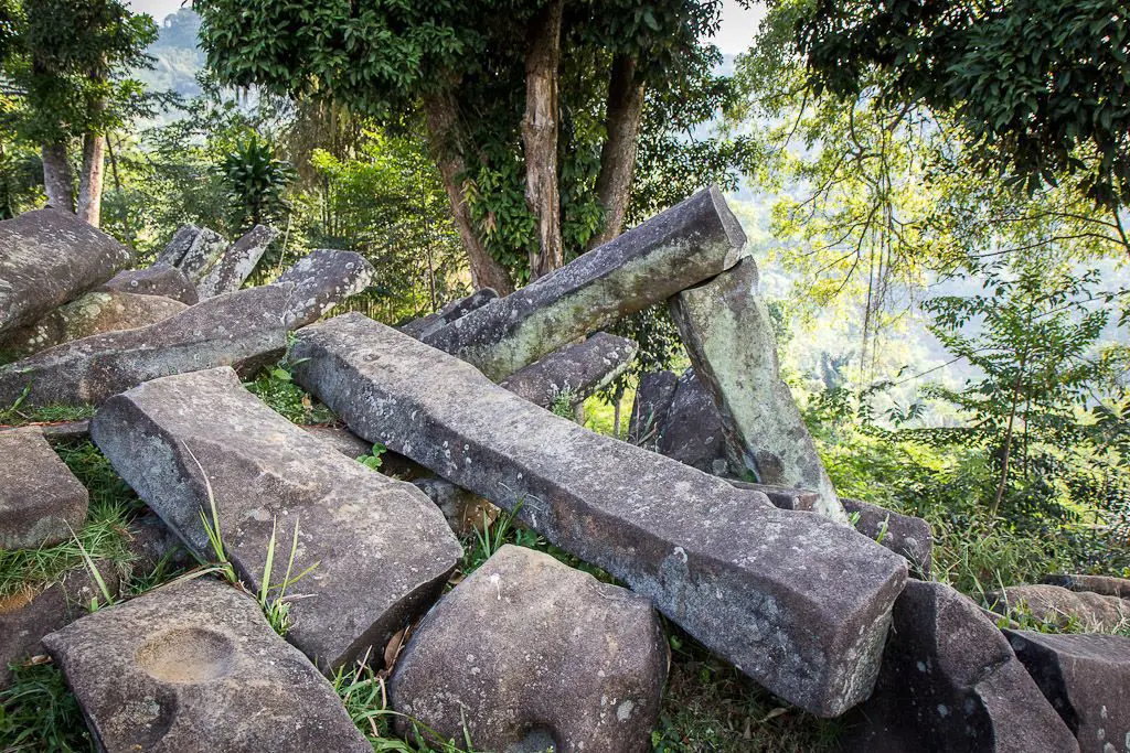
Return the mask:
[[[443,176],[443,186],[451,202],[451,216],[459,230],[459,237],[467,251],[467,261],[471,268],[471,280],[476,288],[494,288],[505,296],[514,291],[514,283],[506,269],[499,264],[486,249],[479,236],[475,233],[471,212],[463,199],[463,190],[459,177],[466,166],[459,154],[457,142],[455,103],[451,95],[432,95],[424,99],[427,113],[428,139],[432,155]]]

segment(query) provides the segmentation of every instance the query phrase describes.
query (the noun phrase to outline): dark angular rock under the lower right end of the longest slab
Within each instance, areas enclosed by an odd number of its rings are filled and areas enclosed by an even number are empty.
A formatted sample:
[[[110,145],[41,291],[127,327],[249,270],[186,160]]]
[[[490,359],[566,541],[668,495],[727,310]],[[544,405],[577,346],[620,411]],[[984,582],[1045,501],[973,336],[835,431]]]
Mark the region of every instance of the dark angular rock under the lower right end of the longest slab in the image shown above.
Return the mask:
[[[997,627],[938,583],[906,585],[875,694],[844,721],[860,753],[1079,750]]]

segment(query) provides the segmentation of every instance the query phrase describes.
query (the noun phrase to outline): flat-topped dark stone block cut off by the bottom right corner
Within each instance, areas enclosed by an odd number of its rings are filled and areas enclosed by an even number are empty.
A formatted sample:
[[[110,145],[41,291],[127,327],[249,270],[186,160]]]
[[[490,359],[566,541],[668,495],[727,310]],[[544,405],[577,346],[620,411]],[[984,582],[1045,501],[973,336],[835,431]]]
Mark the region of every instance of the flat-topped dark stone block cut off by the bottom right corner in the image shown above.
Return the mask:
[[[1083,753],[1130,750],[1130,638],[1026,630],[1005,636]]]

